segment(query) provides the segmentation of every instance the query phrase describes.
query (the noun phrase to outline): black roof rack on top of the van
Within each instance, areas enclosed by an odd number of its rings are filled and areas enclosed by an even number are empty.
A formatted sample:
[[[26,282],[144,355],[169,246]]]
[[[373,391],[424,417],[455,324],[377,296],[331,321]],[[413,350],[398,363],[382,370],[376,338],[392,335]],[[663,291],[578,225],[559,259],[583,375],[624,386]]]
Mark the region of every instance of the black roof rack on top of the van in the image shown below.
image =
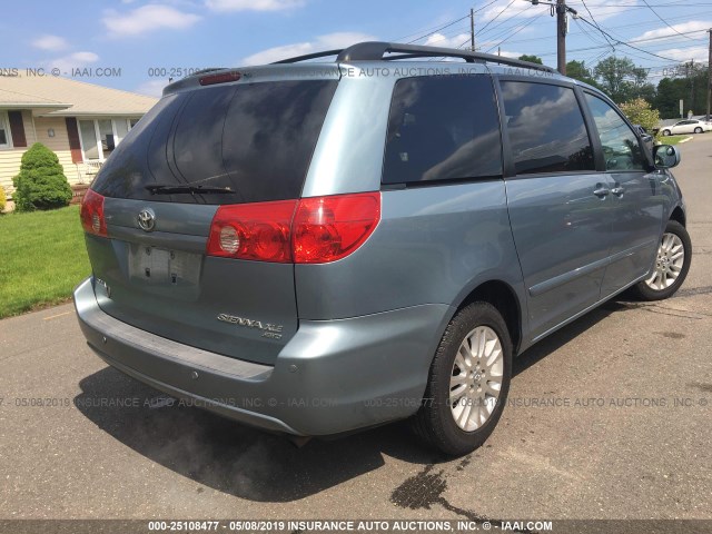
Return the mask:
[[[398,56],[384,57],[386,53],[396,52]],[[551,67],[544,65],[532,63],[530,61],[523,61],[521,59],[504,58],[502,56],[494,56],[492,53],[473,52],[469,50],[459,50],[454,48],[439,48],[439,47],[424,47],[421,44],[399,44],[397,42],[382,42],[382,41],[365,41],[357,44],[353,44],[342,50],[327,50],[324,52],[308,53],[306,56],[297,56],[295,58],[283,59],[276,61],[277,63],[296,63],[298,61],[306,61],[309,59],[325,58],[328,56],[336,56],[337,62],[349,61],[393,61],[397,59],[415,59],[415,58],[461,58],[467,62],[478,63],[500,63],[511,67],[520,67],[524,69],[536,69],[546,72],[557,71]]]

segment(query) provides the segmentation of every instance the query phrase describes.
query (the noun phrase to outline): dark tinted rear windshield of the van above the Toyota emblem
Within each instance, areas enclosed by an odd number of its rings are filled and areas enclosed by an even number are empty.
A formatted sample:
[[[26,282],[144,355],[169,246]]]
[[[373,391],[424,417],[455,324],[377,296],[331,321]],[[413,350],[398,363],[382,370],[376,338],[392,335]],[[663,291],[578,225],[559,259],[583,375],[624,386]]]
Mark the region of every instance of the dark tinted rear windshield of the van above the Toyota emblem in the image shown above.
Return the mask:
[[[165,97],[119,144],[92,189],[186,204],[298,198],[336,85],[260,82]],[[151,194],[151,186],[166,187]]]

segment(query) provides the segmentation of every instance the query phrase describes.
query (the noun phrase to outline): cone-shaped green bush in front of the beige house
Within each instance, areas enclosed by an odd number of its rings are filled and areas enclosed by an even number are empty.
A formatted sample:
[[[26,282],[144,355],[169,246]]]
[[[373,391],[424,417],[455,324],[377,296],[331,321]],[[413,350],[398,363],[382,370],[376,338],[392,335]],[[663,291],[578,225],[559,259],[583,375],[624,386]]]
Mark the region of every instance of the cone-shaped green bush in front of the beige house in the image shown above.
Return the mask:
[[[61,208],[71,200],[71,187],[57,155],[41,142],[22,155],[20,174],[12,182],[16,188],[12,199],[18,211]]]

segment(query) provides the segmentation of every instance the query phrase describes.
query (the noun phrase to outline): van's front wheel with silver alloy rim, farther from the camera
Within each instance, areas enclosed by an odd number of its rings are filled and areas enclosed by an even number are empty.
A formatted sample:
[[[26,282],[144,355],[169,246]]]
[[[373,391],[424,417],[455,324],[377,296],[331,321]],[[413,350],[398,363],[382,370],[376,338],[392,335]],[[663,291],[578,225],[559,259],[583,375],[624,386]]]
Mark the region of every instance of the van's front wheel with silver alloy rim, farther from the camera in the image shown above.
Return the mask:
[[[676,257],[680,251],[683,254],[682,258]],[[688,230],[676,220],[669,220],[653,270],[649,278],[633,286],[633,295],[640,300],[662,300],[672,297],[685,281],[691,261],[692,241]],[[674,277],[671,276],[673,274]]]

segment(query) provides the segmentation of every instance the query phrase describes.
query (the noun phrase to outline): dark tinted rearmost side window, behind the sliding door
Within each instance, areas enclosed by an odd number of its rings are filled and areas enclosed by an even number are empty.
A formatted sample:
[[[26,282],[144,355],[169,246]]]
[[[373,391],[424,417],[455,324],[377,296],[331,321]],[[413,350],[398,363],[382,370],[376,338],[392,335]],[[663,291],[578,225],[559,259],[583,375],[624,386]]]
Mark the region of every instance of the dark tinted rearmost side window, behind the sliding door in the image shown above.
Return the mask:
[[[488,76],[398,80],[383,182],[502,176],[500,119]]]

